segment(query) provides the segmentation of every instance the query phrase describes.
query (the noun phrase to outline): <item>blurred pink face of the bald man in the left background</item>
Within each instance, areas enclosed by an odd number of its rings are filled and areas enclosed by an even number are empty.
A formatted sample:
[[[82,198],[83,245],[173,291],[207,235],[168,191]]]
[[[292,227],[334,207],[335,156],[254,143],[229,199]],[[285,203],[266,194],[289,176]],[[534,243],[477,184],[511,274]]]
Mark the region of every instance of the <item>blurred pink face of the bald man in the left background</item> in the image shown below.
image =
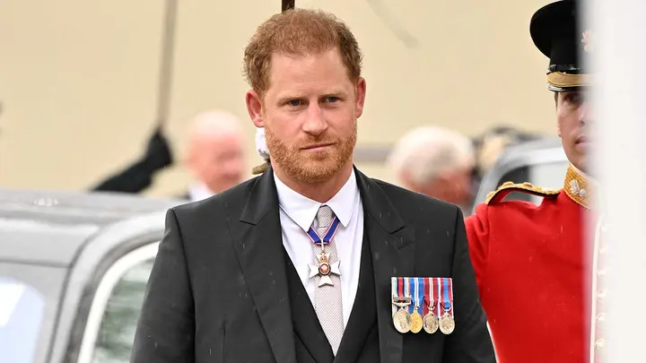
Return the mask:
[[[241,135],[204,135],[196,139],[193,169],[196,177],[214,193],[220,193],[242,181],[244,151]]]

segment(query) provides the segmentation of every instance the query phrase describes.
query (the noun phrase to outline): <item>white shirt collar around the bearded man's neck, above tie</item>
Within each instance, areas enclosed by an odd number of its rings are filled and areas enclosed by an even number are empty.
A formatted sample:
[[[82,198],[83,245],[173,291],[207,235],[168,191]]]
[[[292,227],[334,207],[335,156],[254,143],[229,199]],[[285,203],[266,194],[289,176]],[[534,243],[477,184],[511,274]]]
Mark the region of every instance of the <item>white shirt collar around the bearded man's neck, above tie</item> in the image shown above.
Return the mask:
[[[298,194],[289,186],[286,186],[274,173],[276,191],[278,193],[279,207],[296,223],[303,231],[310,229],[310,226],[316,218],[317,212],[321,205],[327,205],[332,208],[344,227],[353,217],[354,206],[359,203],[359,187],[356,184],[354,169],[344,186],[336,192],[326,203],[319,203],[310,198]]]

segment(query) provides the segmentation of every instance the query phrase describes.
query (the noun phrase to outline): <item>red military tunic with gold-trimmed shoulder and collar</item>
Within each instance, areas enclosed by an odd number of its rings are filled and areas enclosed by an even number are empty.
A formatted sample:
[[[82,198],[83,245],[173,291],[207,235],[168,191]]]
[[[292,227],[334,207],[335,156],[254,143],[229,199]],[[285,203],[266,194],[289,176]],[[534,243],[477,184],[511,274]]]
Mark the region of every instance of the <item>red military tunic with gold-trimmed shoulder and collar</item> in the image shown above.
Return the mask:
[[[583,363],[594,356],[594,248],[584,238],[590,187],[573,167],[561,191],[506,183],[467,218],[470,255],[499,362]],[[544,199],[540,205],[503,202],[513,191]],[[600,341],[597,349],[602,348]]]

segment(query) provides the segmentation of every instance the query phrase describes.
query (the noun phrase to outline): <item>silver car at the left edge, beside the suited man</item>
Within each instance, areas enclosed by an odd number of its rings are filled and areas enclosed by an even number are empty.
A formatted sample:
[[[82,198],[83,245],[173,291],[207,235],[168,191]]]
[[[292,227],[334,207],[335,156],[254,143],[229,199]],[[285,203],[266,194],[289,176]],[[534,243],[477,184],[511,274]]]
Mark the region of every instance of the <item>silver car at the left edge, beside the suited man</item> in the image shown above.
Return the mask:
[[[0,191],[0,363],[127,362],[179,203]]]

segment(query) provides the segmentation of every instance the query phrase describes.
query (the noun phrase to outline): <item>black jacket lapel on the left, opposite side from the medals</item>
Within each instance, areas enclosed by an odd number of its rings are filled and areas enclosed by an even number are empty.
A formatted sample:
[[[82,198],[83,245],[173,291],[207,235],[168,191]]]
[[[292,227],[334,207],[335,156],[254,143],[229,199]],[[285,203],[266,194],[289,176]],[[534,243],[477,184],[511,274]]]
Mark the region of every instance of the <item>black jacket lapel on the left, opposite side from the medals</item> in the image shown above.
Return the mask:
[[[231,238],[276,362],[296,362],[278,196],[273,172],[258,177]]]

